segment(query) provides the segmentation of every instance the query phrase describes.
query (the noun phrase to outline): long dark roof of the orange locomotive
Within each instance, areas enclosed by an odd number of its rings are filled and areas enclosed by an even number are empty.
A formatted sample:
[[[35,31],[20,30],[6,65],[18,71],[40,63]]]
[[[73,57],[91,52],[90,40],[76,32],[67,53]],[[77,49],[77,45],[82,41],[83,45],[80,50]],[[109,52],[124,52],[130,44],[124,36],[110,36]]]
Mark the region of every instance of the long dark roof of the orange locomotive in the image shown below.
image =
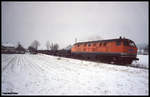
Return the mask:
[[[119,38],[119,39],[109,39],[109,40],[97,40],[97,41],[78,42],[78,43],[75,43],[75,45],[76,44],[83,44],[83,43],[110,42],[110,41],[121,41],[121,40],[132,41],[130,39]]]

